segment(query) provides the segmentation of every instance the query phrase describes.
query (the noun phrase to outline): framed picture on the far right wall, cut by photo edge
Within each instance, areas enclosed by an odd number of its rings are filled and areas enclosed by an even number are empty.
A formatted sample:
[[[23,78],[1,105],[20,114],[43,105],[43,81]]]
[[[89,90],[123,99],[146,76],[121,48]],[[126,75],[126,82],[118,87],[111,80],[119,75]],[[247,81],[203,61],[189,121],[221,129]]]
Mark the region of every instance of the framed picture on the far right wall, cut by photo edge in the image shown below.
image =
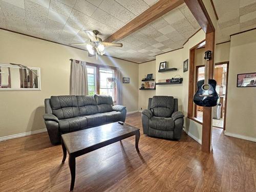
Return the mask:
[[[256,87],[256,72],[238,74],[237,87],[238,88]]]

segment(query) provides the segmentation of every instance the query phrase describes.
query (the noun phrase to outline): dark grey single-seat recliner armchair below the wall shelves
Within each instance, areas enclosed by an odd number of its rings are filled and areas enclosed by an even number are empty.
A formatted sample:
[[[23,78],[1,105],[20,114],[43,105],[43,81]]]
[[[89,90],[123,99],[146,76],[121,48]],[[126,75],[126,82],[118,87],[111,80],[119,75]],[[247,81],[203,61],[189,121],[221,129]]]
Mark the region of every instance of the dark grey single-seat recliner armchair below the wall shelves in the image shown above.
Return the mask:
[[[180,139],[184,115],[178,111],[178,99],[154,96],[148,99],[147,108],[141,115],[143,134],[165,139]]]

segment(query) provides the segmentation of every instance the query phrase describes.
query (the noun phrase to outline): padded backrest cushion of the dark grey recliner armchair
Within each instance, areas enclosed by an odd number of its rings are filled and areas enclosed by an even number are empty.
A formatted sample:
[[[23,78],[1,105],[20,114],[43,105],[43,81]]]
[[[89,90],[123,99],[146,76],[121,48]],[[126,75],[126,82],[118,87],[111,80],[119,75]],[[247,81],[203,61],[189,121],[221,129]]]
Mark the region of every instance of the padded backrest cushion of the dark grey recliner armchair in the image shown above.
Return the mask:
[[[170,117],[174,112],[174,97],[154,96],[151,111],[157,117]]]

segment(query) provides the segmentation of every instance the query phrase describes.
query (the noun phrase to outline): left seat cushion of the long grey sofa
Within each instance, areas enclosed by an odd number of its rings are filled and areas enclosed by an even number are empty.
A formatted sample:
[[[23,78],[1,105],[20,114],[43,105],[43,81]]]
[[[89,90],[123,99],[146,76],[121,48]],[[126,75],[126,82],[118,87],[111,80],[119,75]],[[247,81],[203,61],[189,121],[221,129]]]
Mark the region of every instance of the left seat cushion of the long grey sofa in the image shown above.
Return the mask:
[[[83,129],[88,125],[87,118],[73,117],[59,120],[59,130],[62,133]]]

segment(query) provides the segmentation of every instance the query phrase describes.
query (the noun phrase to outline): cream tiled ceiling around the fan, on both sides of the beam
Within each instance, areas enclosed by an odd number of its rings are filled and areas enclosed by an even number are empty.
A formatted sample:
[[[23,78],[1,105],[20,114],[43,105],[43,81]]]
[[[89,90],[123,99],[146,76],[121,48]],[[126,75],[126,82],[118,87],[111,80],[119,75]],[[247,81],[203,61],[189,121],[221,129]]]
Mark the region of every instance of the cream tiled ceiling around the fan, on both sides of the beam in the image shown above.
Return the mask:
[[[97,29],[105,39],[157,0],[0,0],[0,28],[71,44],[88,41],[82,29]],[[145,62],[181,48],[200,26],[185,4],[123,38],[122,48],[106,54]],[[75,47],[75,46],[74,46]],[[86,49],[84,46],[78,48]]]

